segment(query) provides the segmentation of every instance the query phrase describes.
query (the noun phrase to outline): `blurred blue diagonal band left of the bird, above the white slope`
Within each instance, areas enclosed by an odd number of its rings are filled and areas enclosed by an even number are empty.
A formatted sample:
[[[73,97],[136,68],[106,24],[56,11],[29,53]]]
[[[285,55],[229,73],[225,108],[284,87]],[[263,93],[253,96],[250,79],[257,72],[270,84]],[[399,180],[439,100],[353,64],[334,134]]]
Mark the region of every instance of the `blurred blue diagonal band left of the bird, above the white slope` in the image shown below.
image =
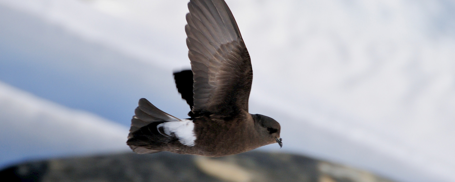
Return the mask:
[[[172,70],[145,64],[31,15],[2,9],[13,16],[2,15],[2,23],[10,26],[0,30],[1,81],[125,126],[141,97],[165,103],[168,110],[189,110],[172,84],[160,84],[172,83]]]

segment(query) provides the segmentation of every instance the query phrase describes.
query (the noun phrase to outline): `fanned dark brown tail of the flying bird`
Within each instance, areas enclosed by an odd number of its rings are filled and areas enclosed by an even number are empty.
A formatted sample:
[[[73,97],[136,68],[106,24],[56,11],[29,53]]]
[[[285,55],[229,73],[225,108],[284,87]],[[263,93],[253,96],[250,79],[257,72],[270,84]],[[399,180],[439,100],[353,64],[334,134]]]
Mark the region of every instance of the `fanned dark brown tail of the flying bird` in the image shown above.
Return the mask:
[[[157,131],[157,125],[163,122],[181,121],[177,117],[161,111],[144,98],[139,100],[139,106],[134,113],[126,144],[139,154],[160,152],[152,148],[156,149],[167,142],[168,138]]]

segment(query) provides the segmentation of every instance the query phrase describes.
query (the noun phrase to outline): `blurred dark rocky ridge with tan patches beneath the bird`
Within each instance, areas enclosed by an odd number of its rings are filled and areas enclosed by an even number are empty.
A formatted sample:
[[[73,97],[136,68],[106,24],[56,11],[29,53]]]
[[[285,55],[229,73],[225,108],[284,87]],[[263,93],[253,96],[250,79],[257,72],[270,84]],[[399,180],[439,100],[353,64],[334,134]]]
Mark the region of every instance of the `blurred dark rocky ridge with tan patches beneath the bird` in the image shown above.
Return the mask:
[[[391,182],[330,162],[257,151],[218,158],[159,152],[50,159],[5,168],[0,178],[11,182]]]

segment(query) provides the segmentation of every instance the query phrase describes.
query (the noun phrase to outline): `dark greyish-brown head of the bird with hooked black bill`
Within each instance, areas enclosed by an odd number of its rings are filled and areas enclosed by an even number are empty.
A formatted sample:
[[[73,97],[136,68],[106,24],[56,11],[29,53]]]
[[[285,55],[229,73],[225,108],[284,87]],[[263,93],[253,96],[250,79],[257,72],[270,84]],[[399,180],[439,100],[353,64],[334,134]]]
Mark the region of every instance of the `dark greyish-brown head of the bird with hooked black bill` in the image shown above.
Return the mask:
[[[271,117],[260,114],[252,114],[251,116],[254,124],[258,126],[259,134],[267,139],[268,144],[276,142],[280,145],[280,148],[283,147],[282,139],[280,138],[280,123]]]

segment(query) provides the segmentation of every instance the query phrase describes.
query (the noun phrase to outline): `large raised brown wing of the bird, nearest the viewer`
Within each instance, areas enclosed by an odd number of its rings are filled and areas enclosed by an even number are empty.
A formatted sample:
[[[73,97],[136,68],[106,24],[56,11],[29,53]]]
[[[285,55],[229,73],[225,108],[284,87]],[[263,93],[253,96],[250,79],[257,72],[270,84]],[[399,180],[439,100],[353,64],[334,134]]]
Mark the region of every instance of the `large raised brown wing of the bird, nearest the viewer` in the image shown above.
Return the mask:
[[[250,56],[224,0],[190,0],[188,57],[193,71],[192,112],[248,112],[253,81]]]

